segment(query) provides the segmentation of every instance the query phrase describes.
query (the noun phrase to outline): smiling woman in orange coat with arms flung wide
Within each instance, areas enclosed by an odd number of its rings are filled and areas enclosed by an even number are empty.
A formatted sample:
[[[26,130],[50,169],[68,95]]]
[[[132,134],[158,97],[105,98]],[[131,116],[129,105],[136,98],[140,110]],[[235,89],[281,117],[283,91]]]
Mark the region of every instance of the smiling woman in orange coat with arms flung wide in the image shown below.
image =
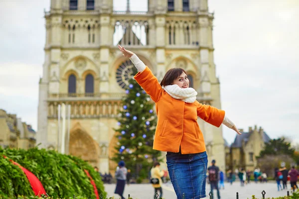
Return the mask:
[[[158,117],[153,149],[166,151],[169,177],[177,199],[205,198],[207,154],[197,117],[219,127],[221,123],[241,134],[225,117],[225,111],[196,100],[197,92],[189,88],[186,72],[181,68],[166,72],[161,83],[133,52],[119,45],[138,73],[134,79],[155,102]]]

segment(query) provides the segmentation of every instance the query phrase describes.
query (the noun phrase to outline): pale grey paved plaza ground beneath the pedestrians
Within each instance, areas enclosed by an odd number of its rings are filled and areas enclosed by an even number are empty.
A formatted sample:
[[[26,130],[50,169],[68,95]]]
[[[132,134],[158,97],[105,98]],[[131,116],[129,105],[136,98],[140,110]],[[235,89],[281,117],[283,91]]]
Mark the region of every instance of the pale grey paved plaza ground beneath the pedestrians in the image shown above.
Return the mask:
[[[119,199],[118,195],[114,194],[115,184],[105,184],[105,191],[108,193],[108,197],[115,197]],[[233,185],[228,183],[225,184],[225,189],[220,190],[221,199],[236,199],[236,192],[239,193],[239,199],[251,199],[252,195],[255,195],[257,198],[262,198],[262,191],[265,190],[265,198],[280,197],[286,196],[287,191],[290,191],[290,184],[288,184],[288,190],[283,190],[278,192],[277,185],[275,182],[270,183],[250,183],[245,187],[241,187],[239,182],[235,182]],[[125,187],[124,196],[127,199],[128,194],[133,199],[153,199],[154,190],[150,184],[132,184]],[[210,185],[206,185],[206,195],[210,192]],[[216,196],[216,197],[215,197]],[[174,190],[170,183],[163,184],[163,198],[164,199],[176,199]],[[206,197],[205,199],[209,199]],[[214,191],[214,199],[217,199],[217,193]]]

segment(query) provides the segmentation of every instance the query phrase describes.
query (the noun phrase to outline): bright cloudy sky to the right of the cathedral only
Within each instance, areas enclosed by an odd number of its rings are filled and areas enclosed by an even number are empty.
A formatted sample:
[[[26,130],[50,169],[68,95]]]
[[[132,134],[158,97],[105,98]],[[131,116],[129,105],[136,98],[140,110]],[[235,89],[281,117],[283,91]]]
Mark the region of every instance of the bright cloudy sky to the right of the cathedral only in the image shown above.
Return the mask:
[[[209,8],[222,108],[245,132],[256,124],[272,138],[299,138],[298,1],[210,0]]]

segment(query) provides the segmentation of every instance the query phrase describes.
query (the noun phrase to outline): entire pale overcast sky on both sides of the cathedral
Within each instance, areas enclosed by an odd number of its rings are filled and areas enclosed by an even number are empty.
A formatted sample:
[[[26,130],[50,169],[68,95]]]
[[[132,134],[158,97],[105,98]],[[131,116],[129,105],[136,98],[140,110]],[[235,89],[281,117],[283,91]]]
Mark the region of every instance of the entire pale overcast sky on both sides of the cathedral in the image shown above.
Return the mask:
[[[146,0],[131,0],[145,10]],[[125,10],[125,0],[115,0]],[[139,5],[139,6],[138,6]],[[0,108],[37,129],[50,0],[0,0]],[[238,128],[299,142],[299,1],[209,0],[222,109]],[[235,133],[223,127],[232,142]]]

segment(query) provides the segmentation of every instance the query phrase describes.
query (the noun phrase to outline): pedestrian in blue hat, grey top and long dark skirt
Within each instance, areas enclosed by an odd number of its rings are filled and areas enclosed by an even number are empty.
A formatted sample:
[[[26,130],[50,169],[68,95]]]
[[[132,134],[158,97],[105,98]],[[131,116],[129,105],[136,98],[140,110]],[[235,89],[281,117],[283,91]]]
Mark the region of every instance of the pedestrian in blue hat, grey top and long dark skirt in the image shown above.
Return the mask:
[[[122,199],[125,199],[123,196],[126,180],[127,180],[127,168],[125,167],[125,162],[120,161],[119,162],[119,169],[115,172],[115,178],[117,179],[116,188],[115,188],[115,194],[120,195]]]

